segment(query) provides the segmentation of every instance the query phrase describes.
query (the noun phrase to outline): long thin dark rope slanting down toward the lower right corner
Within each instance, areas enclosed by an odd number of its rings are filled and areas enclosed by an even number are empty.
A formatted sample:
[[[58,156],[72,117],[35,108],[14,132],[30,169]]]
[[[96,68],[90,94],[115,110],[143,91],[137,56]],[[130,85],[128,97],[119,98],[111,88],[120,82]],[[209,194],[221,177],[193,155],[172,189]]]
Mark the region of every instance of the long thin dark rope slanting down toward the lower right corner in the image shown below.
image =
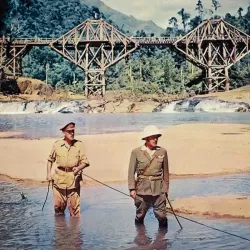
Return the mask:
[[[113,188],[113,187],[111,187],[111,186],[109,186],[109,185],[107,185],[107,184],[105,184],[105,183],[103,183],[103,182],[101,182],[101,181],[98,181],[98,180],[96,180],[96,179],[94,179],[94,178],[92,178],[92,177],[90,177],[90,176],[88,176],[88,175],[86,175],[86,174],[83,174],[83,175],[86,176],[86,177],[88,177],[88,178],[90,178],[90,179],[92,179],[92,180],[94,180],[94,181],[96,181],[96,182],[98,182],[98,183],[100,183],[100,184],[102,184],[103,186],[106,186],[106,187],[108,187],[108,188],[110,188],[110,189],[113,189],[113,190],[115,190],[115,191],[117,191],[117,192],[119,192],[119,193],[121,193],[121,194],[123,194],[123,195],[125,195],[125,196],[130,197],[130,195],[128,195],[128,194],[126,194],[126,193],[124,193],[124,192],[122,192],[122,191],[120,191],[120,190],[118,190],[118,189],[116,189],[116,188]],[[131,197],[130,197],[130,198],[131,198]],[[170,212],[171,214],[174,214],[172,211],[169,211],[169,212]],[[184,217],[184,216],[181,216],[181,215],[177,215],[177,214],[176,214],[176,216],[179,217],[179,218],[182,218],[182,219],[184,219],[184,220],[188,220],[188,221],[190,221],[190,222],[196,223],[196,224],[198,224],[198,225],[201,225],[201,226],[204,226],[204,227],[213,229],[213,230],[215,230],[215,231],[218,231],[218,232],[221,232],[221,233],[225,233],[225,234],[228,234],[228,235],[230,235],[230,236],[234,236],[234,237],[240,238],[240,239],[242,239],[242,240],[250,241],[250,239],[248,239],[248,238],[245,238],[245,237],[242,237],[242,236],[240,236],[240,235],[233,234],[233,233],[230,233],[230,232],[227,232],[227,231],[218,229],[218,228],[216,228],[216,227],[212,227],[212,226],[206,225],[206,224],[204,224],[204,223],[201,223],[201,222],[198,222],[198,221],[189,219],[189,218],[187,218],[187,217]]]

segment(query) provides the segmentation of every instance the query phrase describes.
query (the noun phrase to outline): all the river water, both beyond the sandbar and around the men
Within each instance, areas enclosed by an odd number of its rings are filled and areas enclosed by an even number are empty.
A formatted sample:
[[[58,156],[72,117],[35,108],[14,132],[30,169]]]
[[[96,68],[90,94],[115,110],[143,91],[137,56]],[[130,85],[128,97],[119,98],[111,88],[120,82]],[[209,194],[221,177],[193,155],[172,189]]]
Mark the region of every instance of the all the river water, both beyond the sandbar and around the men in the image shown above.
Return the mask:
[[[25,138],[57,137],[68,121],[78,134],[139,131],[145,125],[166,127],[185,123],[250,124],[249,113],[178,114],[19,114],[0,115],[0,131],[22,132]],[[93,176],[94,177],[94,176]],[[174,179],[170,200],[189,196],[250,194],[250,174]],[[126,184],[112,185],[127,193]],[[27,200],[22,200],[24,192]],[[81,218],[54,217],[47,187],[0,181],[0,249],[249,249],[250,241],[180,219],[183,230],[168,215],[168,230],[158,230],[150,210],[145,227],[135,227],[132,200],[105,186],[82,188]],[[206,225],[250,239],[249,220],[190,217]]]

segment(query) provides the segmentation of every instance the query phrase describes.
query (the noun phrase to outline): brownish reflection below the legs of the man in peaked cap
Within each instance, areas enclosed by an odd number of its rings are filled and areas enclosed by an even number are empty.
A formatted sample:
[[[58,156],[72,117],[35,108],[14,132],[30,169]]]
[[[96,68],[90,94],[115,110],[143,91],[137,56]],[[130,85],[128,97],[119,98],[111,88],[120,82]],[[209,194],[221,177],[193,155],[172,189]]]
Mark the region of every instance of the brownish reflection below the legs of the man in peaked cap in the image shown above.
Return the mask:
[[[54,249],[82,249],[83,240],[80,218],[66,219],[55,216]]]

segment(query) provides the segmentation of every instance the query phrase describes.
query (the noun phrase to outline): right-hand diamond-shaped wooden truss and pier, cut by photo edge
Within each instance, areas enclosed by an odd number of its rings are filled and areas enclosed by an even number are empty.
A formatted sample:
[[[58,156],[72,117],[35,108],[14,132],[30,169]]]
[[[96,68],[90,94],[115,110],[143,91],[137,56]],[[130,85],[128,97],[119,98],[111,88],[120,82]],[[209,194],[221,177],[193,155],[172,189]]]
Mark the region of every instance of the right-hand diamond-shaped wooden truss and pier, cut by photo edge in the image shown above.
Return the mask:
[[[228,69],[249,53],[250,37],[225,22],[210,19],[177,40],[174,45],[197,67],[206,71],[206,92],[230,88]]]

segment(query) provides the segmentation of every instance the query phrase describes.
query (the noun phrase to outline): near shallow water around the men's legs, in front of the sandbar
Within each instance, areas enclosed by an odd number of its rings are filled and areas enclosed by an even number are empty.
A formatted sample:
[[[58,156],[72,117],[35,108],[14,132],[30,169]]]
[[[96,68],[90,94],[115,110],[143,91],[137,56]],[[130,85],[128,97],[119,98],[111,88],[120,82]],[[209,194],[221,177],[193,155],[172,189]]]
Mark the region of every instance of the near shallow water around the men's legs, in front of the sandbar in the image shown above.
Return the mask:
[[[170,200],[191,195],[249,195],[250,174],[204,179],[174,179]],[[127,185],[112,187],[127,193]],[[20,191],[27,200],[21,200]],[[180,219],[183,230],[168,215],[167,230],[158,230],[152,210],[145,227],[134,225],[132,200],[104,186],[83,187],[81,218],[53,216],[47,187],[0,182],[0,249],[249,249],[250,241],[239,239]],[[250,238],[249,220],[189,217],[209,226]]]

